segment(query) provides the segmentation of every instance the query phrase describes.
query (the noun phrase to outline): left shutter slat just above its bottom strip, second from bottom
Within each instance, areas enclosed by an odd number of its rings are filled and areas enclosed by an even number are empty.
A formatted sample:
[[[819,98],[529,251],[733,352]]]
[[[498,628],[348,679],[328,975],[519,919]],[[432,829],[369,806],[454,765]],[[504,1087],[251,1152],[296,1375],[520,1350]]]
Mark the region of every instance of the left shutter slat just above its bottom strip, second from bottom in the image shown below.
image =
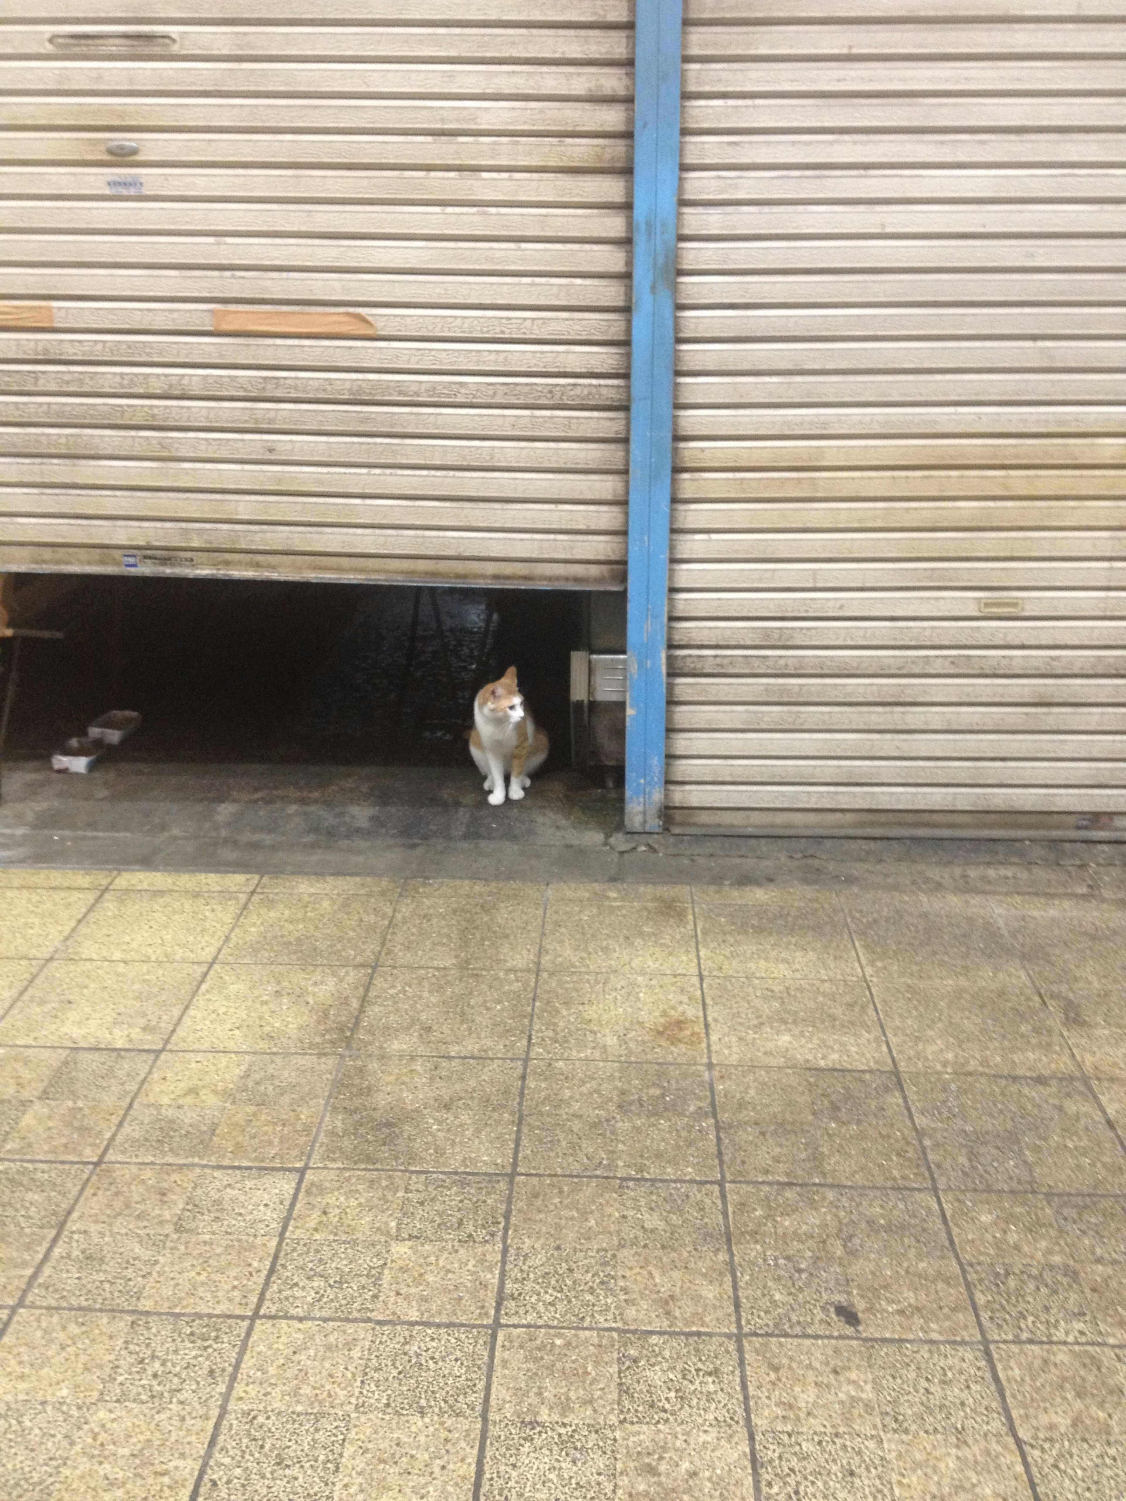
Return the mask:
[[[507,501],[395,500],[366,495],[302,498],[269,492],[177,495],[167,491],[0,486],[0,515],[24,519],[90,516],[116,521],[218,521],[321,528],[363,525],[474,533],[614,534],[625,530],[622,506],[527,504],[515,497]]]

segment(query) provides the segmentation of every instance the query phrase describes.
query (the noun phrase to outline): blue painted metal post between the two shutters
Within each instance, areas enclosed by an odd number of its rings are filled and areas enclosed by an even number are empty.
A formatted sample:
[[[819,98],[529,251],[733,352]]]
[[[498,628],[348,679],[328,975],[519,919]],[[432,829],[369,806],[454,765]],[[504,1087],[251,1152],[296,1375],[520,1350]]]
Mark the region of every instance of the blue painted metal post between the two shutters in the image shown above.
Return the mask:
[[[626,829],[637,832],[659,830],[665,808],[680,26],[682,0],[637,0],[626,623]]]

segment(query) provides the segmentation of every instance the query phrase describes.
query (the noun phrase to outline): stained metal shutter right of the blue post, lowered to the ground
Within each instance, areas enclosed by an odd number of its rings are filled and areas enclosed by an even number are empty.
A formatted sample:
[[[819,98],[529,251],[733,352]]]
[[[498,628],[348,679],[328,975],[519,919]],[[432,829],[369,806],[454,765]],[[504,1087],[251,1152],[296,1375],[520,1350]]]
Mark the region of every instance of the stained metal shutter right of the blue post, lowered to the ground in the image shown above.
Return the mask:
[[[1126,26],[689,0],[674,826],[1126,812]]]

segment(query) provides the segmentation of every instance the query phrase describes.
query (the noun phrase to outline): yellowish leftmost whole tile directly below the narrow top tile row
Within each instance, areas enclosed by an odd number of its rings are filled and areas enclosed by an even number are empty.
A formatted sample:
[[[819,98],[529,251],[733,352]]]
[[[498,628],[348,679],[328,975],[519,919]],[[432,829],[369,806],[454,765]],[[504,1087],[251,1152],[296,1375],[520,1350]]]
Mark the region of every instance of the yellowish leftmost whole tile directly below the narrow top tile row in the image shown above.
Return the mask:
[[[66,959],[210,964],[246,898],[227,892],[105,892],[63,950]]]

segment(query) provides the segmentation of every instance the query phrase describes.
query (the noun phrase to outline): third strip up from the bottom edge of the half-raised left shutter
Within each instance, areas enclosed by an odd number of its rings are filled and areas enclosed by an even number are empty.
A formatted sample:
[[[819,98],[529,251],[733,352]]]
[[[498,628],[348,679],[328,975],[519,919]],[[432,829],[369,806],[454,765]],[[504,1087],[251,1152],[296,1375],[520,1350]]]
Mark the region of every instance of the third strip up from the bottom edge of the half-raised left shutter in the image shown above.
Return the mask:
[[[625,506],[626,476],[574,471],[477,468],[360,468],[323,464],[254,464],[182,459],[9,458],[9,485],[80,485],[108,489],[254,491],[276,495],[398,498],[577,500]]]

